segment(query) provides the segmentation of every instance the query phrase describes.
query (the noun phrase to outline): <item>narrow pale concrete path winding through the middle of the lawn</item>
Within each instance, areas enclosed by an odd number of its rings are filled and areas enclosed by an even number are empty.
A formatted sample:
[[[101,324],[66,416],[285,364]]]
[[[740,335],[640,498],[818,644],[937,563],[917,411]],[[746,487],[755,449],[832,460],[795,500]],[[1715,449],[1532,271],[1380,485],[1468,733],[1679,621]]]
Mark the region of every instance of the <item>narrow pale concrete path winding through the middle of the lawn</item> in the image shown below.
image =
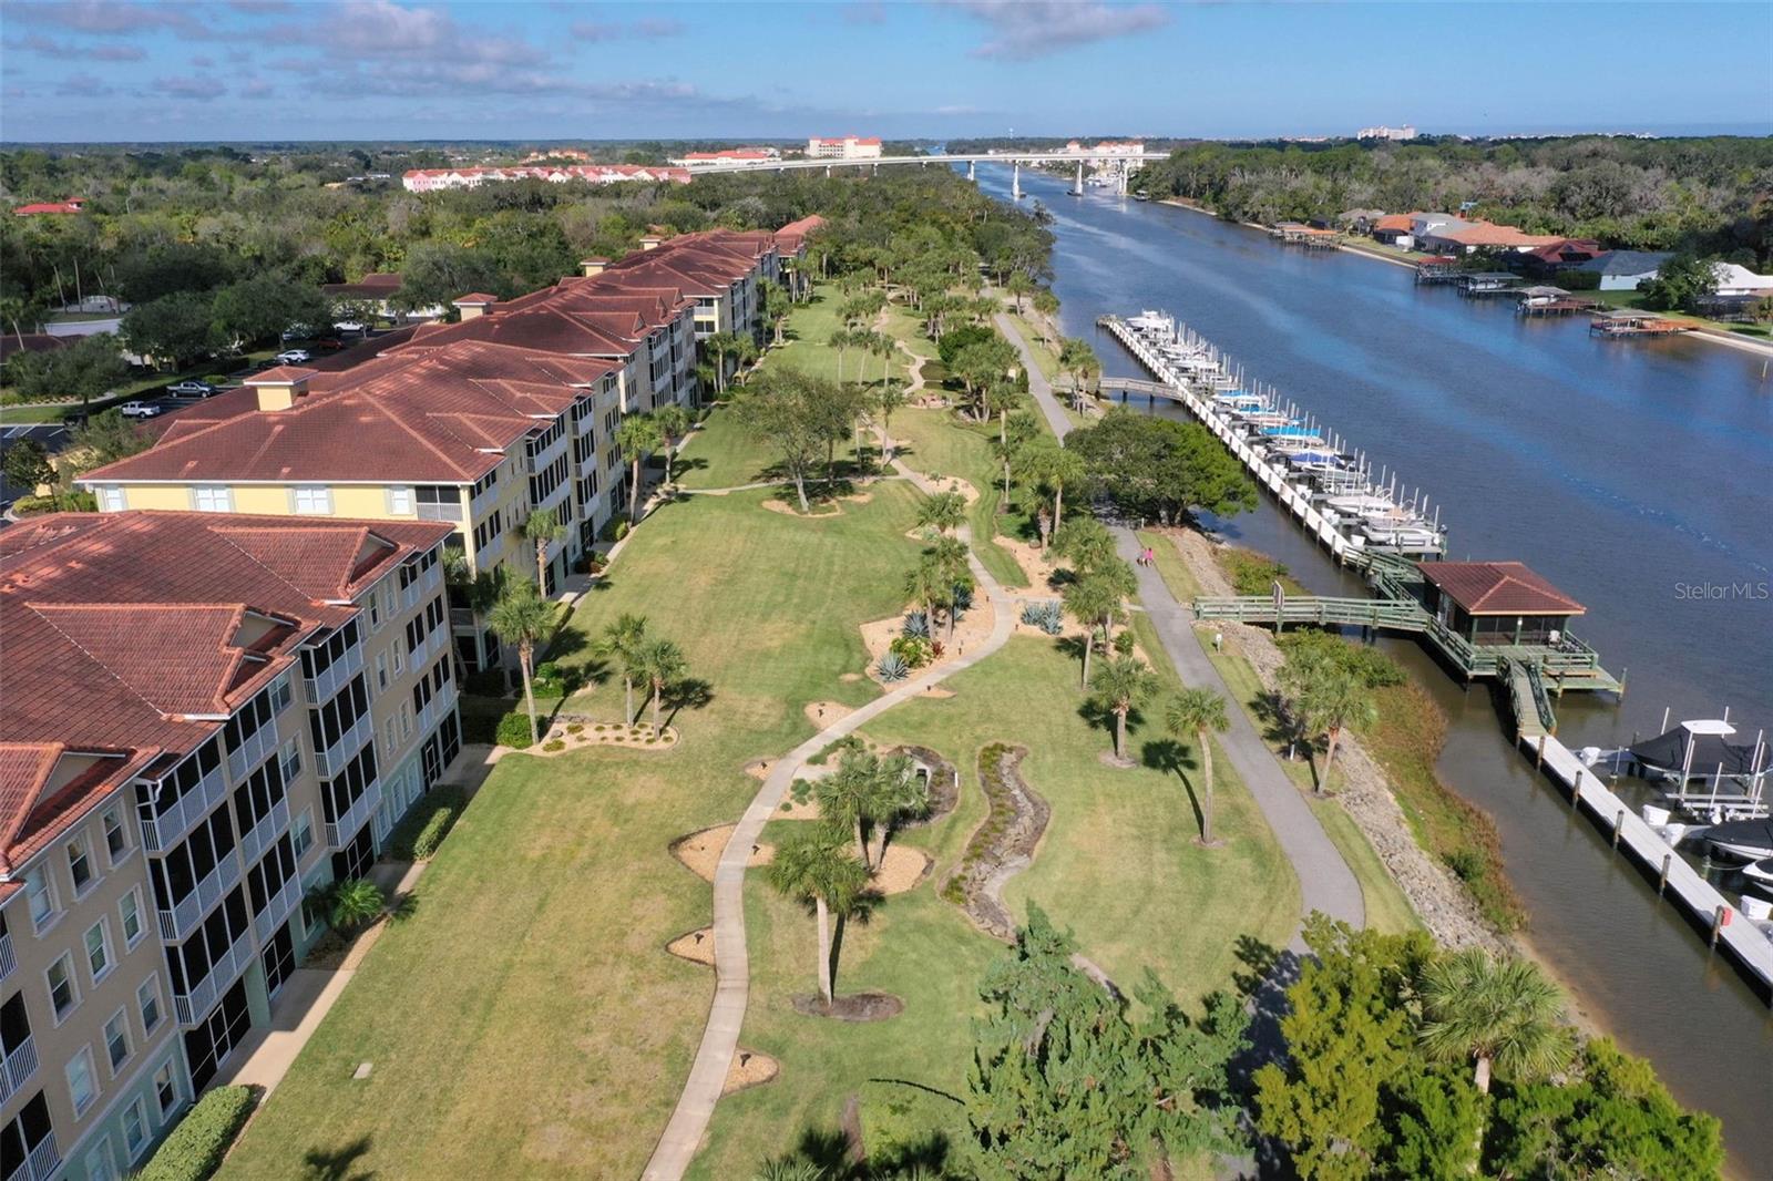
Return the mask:
[[[929,491],[927,481],[894,461],[894,470],[908,477],[918,489]],[[959,537],[972,543],[966,528],[957,530]],[[707,1025],[702,1030],[702,1044],[695,1052],[690,1066],[690,1078],[684,1082],[677,1108],[665,1126],[652,1160],[647,1161],[642,1181],[677,1181],[688,1170],[709,1121],[715,1117],[715,1105],[732,1068],[732,1055],[739,1046],[739,1028],[745,1025],[745,1005],[750,998],[750,952],[745,945],[745,864],[750,860],[752,846],[762,835],[764,825],[780,810],[782,798],[789,784],[794,782],[801,763],[830,747],[840,738],[847,738],[894,706],[910,700],[943,681],[954,672],[970,669],[991,653],[1004,647],[1016,630],[1012,603],[1004,589],[991,578],[979,559],[968,551],[968,567],[993,610],[993,628],[984,644],[963,656],[931,669],[924,676],[906,681],[899,688],[876,697],[855,713],[849,713],[824,727],[769,768],[769,777],[752,798],[750,807],[739,819],[738,828],[727,837],[727,848],[720,853],[715,867],[715,1000],[707,1011]]]

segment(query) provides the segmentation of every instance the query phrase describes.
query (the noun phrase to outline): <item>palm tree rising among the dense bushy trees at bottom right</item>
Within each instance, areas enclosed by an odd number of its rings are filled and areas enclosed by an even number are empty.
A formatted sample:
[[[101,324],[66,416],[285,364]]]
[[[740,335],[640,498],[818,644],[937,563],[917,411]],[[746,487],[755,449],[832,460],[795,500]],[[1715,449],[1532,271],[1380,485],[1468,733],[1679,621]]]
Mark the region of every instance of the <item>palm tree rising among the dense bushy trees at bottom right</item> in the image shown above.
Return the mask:
[[[1574,1044],[1562,1014],[1557,984],[1528,959],[1470,947],[1422,974],[1422,1048],[1445,1062],[1475,1062],[1472,1082],[1484,1094],[1491,1068],[1532,1080],[1569,1062]]]

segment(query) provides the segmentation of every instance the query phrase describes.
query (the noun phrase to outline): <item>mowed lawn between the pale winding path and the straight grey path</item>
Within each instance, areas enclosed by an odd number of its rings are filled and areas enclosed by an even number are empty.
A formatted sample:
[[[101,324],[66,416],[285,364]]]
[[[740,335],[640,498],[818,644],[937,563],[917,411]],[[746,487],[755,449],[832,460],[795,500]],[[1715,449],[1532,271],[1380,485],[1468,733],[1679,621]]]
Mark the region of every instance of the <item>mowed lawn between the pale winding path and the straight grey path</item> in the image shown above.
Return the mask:
[[[761,876],[748,878],[752,1000],[741,1044],[778,1059],[782,1073],[768,1087],[722,1099],[691,1176],[752,1176],[801,1131],[835,1130],[846,1099],[867,1080],[965,1094],[977,986],[1002,945],[940,899],[936,885],[984,817],[977,757],[988,743],[1028,748],[1021,773],[1053,812],[1034,864],[1011,880],[1005,901],[1018,917],[1035,903],[1071,927],[1082,952],[1122,989],[1151,968],[1195,1007],[1202,993],[1230,984],[1238,936],[1282,945],[1298,922],[1293,869],[1225,761],[1215,764],[1225,844],[1207,849],[1195,841],[1183,780],[1160,770],[1167,736],[1154,720],[1138,720],[1129,750],[1149,754],[1156,766],[1105,766],[1099,755],[1110,734],[1080,713],[1078,661],[1055,642],[1016,637],[947,686],[952,699],[906,702],[863,731],[881,743],[940,750],[961,771],[961,807],[901,837],[936,858],[934,872],[886,899],[865,924],[851,924],[842,945],[839,991],[888,991],[906,1002],[904,1013],[871,1025],[794,1013],[791,998],[814,989],[812,919]],[[1199,773],[1190,755],[1184,766]],[[771,828],[793,823],[803,821]]]

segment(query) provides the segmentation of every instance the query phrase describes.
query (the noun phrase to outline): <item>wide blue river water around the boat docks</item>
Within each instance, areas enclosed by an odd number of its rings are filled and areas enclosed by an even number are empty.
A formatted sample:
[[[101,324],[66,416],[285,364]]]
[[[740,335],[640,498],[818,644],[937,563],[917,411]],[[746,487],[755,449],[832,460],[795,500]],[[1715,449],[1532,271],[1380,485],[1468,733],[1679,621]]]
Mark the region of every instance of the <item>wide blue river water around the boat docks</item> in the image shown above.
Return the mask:
[[[980,168],[1007,199],[1009,170]],[[1518,559],[1587,605],[1574,631],[1624,699],[1557,704],[1571,748],[1626,745],[1674,718],[1773,729],[1773,376],[1700,340],[1601,340],[1585,317],[1417,287],[1401,266],[1305,252],[1156,202],[1071,197],[1023,172],[1053,215],[1067,335],[1105,371],[1147,376],[1097,316],[1163,309],[1378,465],[1443,505],[1452,559]],[[1161,406],[1156,413],[1186,413]],[[1351,580],[1273,505],[1222,523],[1312,590]],[[1388,642],[1450,718],[1443,780],[1496,819],[1527,938],[1578,1007],[1723,1119],[1730,1172],[1773,1170],[1773,1014],[1706,952],[1654,883],[1544,786],[1486,686],[1461,688]],[[1729,885],[1729,883],[1727,883]]]

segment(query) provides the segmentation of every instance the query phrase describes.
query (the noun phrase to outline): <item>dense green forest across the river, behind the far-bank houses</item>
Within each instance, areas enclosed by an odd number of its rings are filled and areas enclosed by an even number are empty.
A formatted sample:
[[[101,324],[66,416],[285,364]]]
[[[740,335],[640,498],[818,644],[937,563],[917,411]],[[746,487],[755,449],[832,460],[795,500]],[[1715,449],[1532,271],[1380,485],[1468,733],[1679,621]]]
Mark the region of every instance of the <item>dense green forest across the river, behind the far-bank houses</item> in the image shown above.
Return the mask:
[[[1773,261],[1773,138],[1195,144],[1147,165],[1135,188],[1264,225],[1466,207],[1530,234]]]

